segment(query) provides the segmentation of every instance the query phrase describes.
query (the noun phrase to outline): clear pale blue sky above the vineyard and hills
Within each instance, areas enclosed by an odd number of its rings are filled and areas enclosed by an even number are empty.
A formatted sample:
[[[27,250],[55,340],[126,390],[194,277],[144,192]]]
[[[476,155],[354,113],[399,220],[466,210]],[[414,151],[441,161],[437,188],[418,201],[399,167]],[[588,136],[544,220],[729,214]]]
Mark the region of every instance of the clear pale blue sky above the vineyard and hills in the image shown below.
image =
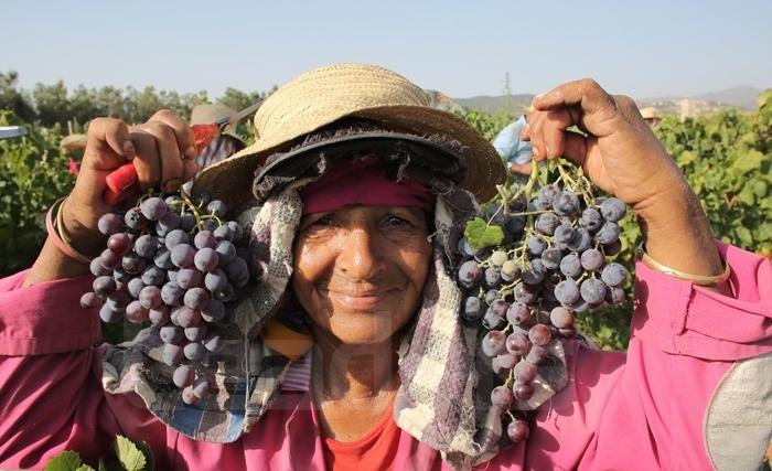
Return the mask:
[[[593,77],[636,99],[772,87],[772,1],[3,0],[0,72],[180,93],[378,64],[452,97]]]

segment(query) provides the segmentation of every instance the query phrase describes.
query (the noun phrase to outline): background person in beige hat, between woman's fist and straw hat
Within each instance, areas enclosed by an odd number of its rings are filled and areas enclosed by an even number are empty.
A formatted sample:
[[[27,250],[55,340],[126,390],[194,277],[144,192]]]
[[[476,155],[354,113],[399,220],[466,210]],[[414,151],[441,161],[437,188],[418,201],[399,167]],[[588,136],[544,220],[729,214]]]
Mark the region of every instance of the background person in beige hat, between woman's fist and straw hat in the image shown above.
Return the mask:
[[[196,105],[191,111],[191,125],[207,125],[215,122],[217,119],[226,116],[235,115],[236,110],[221,104],[204,104]],[[239,150],[244,149],[246,143],[236,133],[236,124],[232,122],[223,129],[219,135],[210,142],[204,150],[195,158],[195,163],[199,171],[227,159]]]

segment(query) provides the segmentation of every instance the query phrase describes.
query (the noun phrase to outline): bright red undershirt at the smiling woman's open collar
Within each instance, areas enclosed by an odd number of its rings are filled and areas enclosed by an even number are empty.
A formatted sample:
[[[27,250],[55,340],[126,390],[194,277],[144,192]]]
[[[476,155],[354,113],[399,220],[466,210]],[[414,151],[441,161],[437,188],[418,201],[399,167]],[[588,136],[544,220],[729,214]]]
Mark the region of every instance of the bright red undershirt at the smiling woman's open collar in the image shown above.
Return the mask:
[[[399,428],[392,407],[375,427],[355,441],[323,439],[324,461],[329,470],[392,470],[399,446]]]

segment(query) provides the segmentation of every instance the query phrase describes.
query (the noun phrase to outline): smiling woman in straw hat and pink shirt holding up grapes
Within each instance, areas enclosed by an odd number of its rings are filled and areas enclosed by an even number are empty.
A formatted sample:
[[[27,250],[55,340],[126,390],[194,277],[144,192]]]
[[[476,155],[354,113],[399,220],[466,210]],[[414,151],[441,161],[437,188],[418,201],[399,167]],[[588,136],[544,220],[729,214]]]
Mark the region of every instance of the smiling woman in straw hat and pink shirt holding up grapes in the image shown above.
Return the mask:
[[[626,354],[554,344],[527,439],[497,440],[492,373],[479,328],[460,320],[451,268],[463,223],[504,182],[500,157],[400,75],[337,64],[274,93],[257,141],[195,181],[264,247],[253,253],[264,275],[230,307],[235,356],[210,400],[180,400],[152,330],[93,346],[98,318],[78,306],[88,267],[56,234],[30,270],[0,280],[0,467],[41,467],[65,449],[94,461],[116,433],[147,441],[158,469],[758,467],[772,395],[769,260],[712,239],[631,99],[585,79],[534,106],[523,131],[534,158],[568,159],[626,202],[660,265],[637,264]],[[588,133],[568,130],[577,125]],[[109,171],[132,160],[142,186],[173,188],[197,170],[191,149],[167,111],[132,131],[95,120],[63,203],[69,250],[104,248]]]

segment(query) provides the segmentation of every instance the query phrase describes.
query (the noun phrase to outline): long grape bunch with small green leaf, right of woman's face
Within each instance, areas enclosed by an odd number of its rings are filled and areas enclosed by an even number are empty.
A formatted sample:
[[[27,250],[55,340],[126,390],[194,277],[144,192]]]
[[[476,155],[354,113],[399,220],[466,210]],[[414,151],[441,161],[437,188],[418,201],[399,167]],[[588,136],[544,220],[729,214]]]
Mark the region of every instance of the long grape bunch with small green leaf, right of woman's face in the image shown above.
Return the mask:
[[[500,189],[479,215],[486,231],[503,235],[501,243],[475,246],[469,225],[459,243],[458,281],[467,290],[461,315],[487,331],[480,347],[498,377],[491,402],[508,419],[514,442],[528,437],[514,410],[534,396],[550,343],[576,334],[576,313],[622,302],[628,278],[622,265],[609,261],[622,247],[618,222],[625,204],[597,197],[581,170],[561,162],[534,167],[527,184],[514,194]],[[539,175],[553,181],[538,185]]]

